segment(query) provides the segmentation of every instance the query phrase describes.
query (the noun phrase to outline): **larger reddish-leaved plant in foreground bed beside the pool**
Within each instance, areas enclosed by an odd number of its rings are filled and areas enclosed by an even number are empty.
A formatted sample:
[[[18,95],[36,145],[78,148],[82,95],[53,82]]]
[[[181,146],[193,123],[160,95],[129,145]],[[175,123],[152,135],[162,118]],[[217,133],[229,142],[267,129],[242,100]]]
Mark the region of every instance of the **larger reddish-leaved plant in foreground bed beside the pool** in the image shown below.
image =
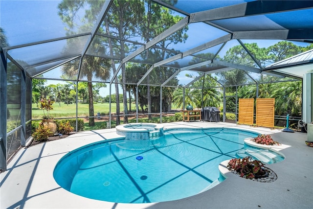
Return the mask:
[[[258,179],[268,176],[268,171],[265,169],[264,164],[261,161],[252,160],[249,156],[243,159],[231,159],[227,163],[227,168],[246,179]]]

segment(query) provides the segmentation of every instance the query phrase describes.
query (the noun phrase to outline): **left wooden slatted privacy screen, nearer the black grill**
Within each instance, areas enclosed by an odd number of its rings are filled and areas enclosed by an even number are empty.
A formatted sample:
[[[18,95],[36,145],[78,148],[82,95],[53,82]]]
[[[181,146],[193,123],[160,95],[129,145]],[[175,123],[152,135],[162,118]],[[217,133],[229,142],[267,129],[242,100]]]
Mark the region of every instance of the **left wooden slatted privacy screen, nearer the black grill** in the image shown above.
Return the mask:
[[[239,99],[239,124],[253,125],[254,99]]]

